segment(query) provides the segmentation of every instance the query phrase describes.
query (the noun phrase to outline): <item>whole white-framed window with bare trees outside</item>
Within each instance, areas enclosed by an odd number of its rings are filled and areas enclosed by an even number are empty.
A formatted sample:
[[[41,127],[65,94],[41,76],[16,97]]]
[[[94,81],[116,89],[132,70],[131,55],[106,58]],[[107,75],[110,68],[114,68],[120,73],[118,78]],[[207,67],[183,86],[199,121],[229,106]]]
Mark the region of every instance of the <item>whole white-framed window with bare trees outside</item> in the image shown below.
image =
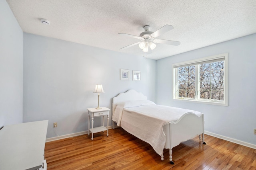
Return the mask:
[[[177,63],[174,99],[228,106],[228,53]]]

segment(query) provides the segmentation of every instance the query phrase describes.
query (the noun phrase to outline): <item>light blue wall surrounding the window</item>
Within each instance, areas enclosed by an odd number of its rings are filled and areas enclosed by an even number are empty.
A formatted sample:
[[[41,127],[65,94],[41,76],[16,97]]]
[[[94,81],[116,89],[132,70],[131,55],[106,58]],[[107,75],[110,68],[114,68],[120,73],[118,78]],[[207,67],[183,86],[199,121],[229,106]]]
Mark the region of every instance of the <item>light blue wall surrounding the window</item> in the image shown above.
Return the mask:
[[[173,100],[172,64],[228,53],[228,106]],[[156,62],[157,104],[204,113],[205,130],[256,145],[256,34],[218,43]]]

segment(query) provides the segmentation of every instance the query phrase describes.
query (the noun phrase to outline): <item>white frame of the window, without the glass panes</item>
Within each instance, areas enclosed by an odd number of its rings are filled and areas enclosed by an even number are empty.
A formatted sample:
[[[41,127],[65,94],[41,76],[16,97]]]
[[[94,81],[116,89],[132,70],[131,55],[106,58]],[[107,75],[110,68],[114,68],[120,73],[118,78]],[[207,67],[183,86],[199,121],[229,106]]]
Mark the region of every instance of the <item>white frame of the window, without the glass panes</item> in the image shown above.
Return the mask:
[[[199,87],[199,64],[203,64],[203,63],[212,63],[214,61],[220,61],[223,60],[224,61],[224,100],[205,100],[205,99],[200,99],[198,96],[198,91],[200,89]],[[195,74],[196,74],[196,86],[195,86],[195,98],[191,99],[191,98],[179,98],[178,97],[178,77],[177,77],[177,68],[178,67],[183,67],[183,66],[190,66],[190,65],[195,65],[196,70],[195,70]],[[219,106],[228,106],[228,53],[224,53],[224,54],[219,54],[219,55],[214,55],[214,56],[210,56],[210,57],[205,57],[202,59],[196,59],[196,60],[191,60],[191,61],[185,61],[185,62],[181,62],[181,63],[176,63],[176,64],[172,64],[172,68],[173,68],[173,99],[174,100],[178,100],[178,101],[186,101],[186,102],[195,102],[195,103],[201,103],[201,104],[211,104],[211,105],[219,105]]]

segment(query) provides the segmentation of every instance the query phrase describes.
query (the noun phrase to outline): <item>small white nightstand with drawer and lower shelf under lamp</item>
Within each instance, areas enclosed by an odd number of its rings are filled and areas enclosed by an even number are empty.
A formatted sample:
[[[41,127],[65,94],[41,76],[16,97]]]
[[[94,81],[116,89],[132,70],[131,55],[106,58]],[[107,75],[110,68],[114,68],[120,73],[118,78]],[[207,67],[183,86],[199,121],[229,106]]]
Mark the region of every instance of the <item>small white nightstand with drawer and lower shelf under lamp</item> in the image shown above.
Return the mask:
[[[96,108],[89,108],[88,110],[88,136],[90,136],[90,132],[92,133],[92,140],[93,140],[93,133],[104,132],[107,130],[108,136],[108,114],[110,109],[107,107],[101,107],[102,109]],[[93,127],[94,117],[102,116],[102,126]],[[104,116],[107,116],[107,127],[104,127]],[[90,128],[90,117],[92,119],[92,128]]]

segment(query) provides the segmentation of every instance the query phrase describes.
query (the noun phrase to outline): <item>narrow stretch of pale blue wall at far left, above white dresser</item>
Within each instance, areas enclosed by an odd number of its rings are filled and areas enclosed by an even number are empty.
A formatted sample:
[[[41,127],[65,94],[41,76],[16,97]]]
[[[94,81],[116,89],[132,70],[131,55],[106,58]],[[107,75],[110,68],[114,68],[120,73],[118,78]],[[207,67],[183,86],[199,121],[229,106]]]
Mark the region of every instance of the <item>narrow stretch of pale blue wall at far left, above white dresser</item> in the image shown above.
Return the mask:
[[[22,123],[23,32],[0,0],[0,127]]]

